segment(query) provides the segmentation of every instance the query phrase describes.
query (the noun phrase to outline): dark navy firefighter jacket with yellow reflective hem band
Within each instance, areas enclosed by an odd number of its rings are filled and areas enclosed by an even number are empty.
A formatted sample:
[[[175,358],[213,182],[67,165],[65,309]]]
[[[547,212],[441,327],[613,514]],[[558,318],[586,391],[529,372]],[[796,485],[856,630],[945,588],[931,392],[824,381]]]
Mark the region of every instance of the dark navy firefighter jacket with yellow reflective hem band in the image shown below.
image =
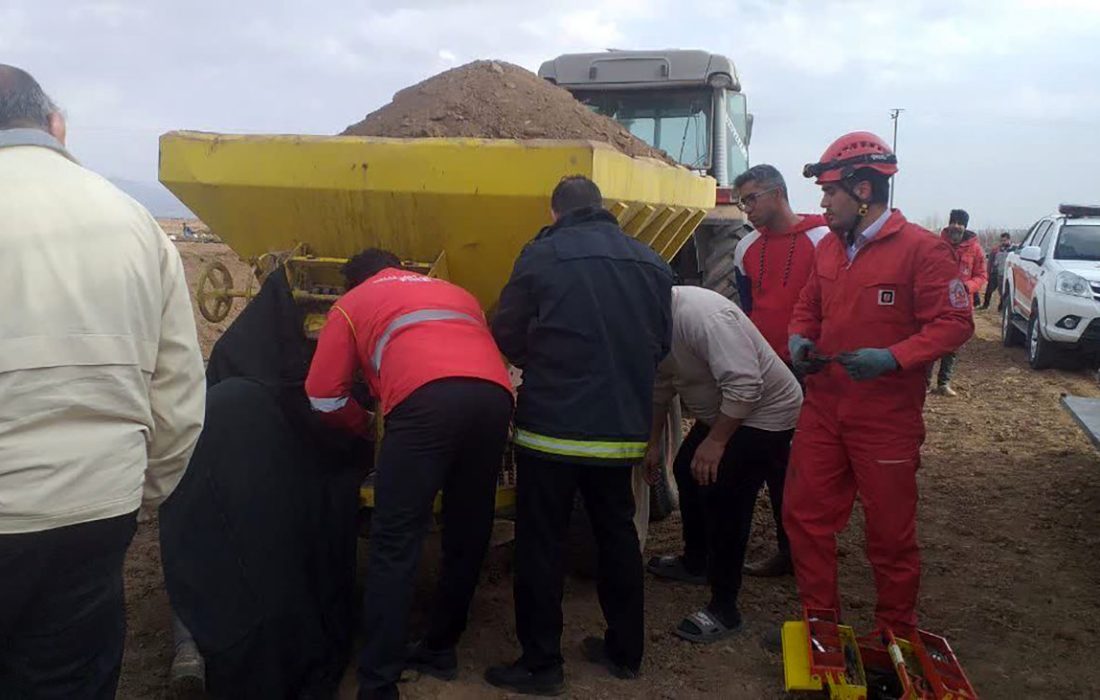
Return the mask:
[[[669,265],[604,209],[572,211],[527,244],[492,320],[524,371],[517,448],[569,462],[641,460],[672,284]]]

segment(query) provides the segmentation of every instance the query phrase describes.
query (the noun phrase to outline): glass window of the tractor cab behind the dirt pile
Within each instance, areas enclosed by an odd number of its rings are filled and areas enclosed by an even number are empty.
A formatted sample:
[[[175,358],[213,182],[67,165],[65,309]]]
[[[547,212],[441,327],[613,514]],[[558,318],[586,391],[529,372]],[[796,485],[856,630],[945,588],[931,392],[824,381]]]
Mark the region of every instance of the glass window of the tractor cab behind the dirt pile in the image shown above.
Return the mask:
[[[693,169],[711,167],[712,95],[710,89],[573,94],[596,113],[610,117]]]

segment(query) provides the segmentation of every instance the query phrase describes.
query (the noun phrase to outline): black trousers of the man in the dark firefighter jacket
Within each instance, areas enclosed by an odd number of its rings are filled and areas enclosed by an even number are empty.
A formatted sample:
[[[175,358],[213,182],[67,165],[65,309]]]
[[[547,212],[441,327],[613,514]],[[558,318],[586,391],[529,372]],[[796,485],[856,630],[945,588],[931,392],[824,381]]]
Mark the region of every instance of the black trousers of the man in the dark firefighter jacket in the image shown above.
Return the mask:
[[[641,550],[630,467],[559,462],[516,453],[516,632],[520,663],[561,666],[561,599],[569,518],[580,490],[596,539],[596,592],[616,663],[640,668],[645,644]]]

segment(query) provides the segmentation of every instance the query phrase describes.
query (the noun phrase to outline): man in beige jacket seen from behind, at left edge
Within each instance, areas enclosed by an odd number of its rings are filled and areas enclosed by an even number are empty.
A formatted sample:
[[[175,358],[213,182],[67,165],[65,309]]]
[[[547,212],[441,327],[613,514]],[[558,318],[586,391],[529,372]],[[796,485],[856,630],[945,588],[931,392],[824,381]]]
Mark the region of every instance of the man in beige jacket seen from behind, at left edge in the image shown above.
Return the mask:
[[[202,427],[179,254],[0,65],[0,697],[113,698],[122,561]]]

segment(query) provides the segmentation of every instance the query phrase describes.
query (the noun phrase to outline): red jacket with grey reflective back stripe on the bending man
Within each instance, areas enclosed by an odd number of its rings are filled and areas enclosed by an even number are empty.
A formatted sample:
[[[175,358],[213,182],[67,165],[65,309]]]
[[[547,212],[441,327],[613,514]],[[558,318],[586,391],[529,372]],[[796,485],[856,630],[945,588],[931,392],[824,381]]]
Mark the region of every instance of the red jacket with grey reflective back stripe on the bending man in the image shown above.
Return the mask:
[[[332,305],[306,379],[315,411],[369,436],[369,415],[351,398],[358,371],[383,415],[439,379],[482,379],[512,391],[477,299],[443,280],[395,269]]]

